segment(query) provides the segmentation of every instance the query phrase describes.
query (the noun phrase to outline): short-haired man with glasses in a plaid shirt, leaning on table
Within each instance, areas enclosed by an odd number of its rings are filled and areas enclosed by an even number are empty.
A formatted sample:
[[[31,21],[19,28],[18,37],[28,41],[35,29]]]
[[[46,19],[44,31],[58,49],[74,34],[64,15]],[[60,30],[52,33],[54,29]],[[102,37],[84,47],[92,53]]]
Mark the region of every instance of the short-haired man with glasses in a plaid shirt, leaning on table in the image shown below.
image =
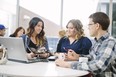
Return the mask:
[[[77,70],[90,71],[93,77],[116,77],[116,40],[108,33],[109,17],[103,12],[89,16],[89,32],[95,37],[95,43],[89,55],[79,55],[88,58],[88,62],[67,63],[61,59],[55,61],[57,66]]]

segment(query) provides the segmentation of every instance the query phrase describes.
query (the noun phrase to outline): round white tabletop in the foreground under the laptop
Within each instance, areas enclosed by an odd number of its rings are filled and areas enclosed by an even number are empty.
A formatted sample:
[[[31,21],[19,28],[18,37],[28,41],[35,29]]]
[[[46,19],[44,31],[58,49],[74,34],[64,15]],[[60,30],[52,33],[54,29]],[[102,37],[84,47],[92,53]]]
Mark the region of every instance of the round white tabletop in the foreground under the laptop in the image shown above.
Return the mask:
[[[87,71],[62,68],[54,62],[38,62],[24,64],[8,61],[6,65],[0,65],[0,74],[16,77],[44,77],[44,76],[70,76],[78,77],[88,74]]]

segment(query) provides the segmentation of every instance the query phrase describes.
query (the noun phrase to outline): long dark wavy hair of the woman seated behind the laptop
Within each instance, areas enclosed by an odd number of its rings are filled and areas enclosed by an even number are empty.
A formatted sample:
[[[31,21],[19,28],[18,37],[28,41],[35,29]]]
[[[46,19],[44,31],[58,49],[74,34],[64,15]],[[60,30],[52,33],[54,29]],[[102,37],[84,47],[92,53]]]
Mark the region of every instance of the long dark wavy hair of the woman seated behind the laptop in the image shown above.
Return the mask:
[[[36,36],[36,41],[37,41],[37,45],[44,45],[45,43],[45,32],[44,32],[44,22],[42,19],[38,18],[38,17],[34,17],[30,20],[29,22],[29,27],[27,28],[27,35],[29,37],[32,36],[33,32],[34,32],[34,28],[35,26],[38,24],[38,22],[42,22],[42,30],[39,34],[37,34]]]

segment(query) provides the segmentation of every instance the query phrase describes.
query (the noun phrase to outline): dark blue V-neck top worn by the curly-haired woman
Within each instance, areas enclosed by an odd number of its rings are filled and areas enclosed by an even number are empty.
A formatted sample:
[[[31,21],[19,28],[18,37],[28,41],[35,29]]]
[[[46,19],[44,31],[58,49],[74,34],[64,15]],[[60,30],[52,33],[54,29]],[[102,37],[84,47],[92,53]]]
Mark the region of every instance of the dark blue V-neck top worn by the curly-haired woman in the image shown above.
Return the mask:
[[[56,52],[67,52],[68,49],[74,50],[77,54],[87,55],[92,43],[87,37],[81,37],[79,40],[75,40],[72,44],[67,37],[63,37],[59,40]]]

